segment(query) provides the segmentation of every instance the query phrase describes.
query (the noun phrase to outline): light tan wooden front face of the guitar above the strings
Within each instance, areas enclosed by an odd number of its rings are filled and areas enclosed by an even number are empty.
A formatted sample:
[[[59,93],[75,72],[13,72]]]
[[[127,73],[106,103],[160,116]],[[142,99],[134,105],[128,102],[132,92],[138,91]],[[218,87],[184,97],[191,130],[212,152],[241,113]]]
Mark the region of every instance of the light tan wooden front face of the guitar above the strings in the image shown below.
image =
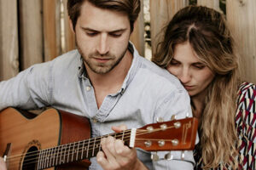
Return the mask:
[[[11,156],[20,156],[33,145],[40,149],[54,147],[59,142],[61,130],[60,123],[56,122],[60,122],[60,116],[55,110],[40,115],[33,121],[26,119],[13,108],[2,111],[0,118],[1,156],[9,142],[12,143]],[[13,159],[10,165],[9,170],[17,170],[20,166],[20,159]]]

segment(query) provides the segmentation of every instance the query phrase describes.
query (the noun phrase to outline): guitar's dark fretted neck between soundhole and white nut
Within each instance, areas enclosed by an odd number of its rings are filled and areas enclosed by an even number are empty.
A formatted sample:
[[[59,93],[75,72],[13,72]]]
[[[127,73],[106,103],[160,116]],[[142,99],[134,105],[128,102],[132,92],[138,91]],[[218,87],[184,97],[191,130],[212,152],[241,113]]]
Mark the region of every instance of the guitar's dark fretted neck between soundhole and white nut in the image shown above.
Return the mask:
[[[130,144],[131,129],[121,133],[111,133],[102,137],[86,139],[70,144],[62,144],[53,148],[38,150],[38,169],[60,166],[73,161],[81,161],[96,156],[101,148],[101,139],[113,136],[121,139],[126,145]]]

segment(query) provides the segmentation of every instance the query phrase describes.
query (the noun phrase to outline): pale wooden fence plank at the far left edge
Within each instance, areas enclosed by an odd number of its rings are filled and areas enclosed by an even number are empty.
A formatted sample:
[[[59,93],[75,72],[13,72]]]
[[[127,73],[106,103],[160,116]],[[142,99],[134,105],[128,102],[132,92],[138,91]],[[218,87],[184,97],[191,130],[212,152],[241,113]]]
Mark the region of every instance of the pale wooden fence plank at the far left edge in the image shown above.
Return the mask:
[[[19,71],[16,0],[0,0],[0,81]]]

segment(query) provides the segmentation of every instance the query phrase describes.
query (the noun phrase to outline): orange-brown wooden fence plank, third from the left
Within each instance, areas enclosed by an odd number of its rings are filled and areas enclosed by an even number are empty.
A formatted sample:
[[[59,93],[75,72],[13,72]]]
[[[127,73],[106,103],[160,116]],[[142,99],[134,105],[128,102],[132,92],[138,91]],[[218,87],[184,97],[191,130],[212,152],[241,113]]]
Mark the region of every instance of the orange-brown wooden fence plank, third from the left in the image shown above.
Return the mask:
[[[43,0],[44,61],[61,54],[61,1]]]

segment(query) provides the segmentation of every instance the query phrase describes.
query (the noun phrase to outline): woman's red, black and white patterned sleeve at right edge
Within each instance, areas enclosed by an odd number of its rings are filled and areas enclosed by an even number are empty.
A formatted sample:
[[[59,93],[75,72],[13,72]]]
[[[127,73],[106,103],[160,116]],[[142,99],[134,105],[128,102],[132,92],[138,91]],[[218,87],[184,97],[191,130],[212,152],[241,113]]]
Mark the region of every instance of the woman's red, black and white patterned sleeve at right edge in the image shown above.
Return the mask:
[[[241,83],[236,100],[236,130],[241,167],[254,169],[256,166],[256,86],[250,82]]]

